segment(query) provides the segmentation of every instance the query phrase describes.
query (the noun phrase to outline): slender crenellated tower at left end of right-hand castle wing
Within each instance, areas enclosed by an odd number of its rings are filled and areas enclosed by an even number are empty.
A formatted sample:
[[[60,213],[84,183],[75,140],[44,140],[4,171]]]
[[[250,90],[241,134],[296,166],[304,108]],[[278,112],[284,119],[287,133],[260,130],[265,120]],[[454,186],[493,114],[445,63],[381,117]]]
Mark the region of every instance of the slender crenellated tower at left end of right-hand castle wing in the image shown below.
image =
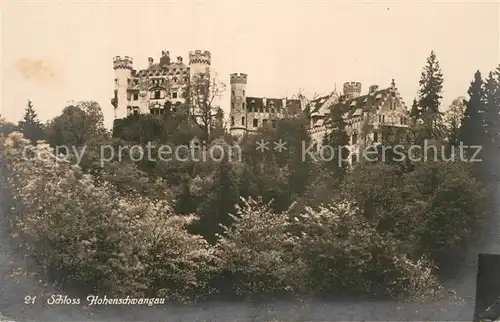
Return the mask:
[[[247,107],[246,102],[246,87],[247,74],[234,73],[231,74],[231,110],[230,116],[230,133],[234,136],[241,136],[247,130]]]

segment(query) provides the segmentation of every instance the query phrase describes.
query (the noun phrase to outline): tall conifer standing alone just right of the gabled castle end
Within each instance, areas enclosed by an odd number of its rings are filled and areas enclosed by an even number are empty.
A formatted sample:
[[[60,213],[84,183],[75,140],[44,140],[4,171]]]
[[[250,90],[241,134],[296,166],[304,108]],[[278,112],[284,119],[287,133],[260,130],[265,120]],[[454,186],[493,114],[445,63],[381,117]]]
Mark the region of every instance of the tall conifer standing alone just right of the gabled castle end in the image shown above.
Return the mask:
[[[441,116],[439,112],[441,92],[443,90],[443,74],[434,51],[427,58],[420,76],[420,90],[418,92],[419,116],[424,121],[427,138],[435,134],[436,122]]]

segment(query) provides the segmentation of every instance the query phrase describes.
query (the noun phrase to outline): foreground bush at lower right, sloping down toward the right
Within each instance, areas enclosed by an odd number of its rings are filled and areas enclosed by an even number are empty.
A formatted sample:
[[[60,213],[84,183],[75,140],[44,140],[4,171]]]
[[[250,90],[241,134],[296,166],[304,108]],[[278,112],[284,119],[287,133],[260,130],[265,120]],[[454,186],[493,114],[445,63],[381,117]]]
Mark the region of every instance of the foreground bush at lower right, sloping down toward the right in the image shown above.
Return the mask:
[[[309,287],[321,295],[435,295],[439,282],[425,259],[407,258],[400,243],[380,234],[349,202],[295,218]]]

